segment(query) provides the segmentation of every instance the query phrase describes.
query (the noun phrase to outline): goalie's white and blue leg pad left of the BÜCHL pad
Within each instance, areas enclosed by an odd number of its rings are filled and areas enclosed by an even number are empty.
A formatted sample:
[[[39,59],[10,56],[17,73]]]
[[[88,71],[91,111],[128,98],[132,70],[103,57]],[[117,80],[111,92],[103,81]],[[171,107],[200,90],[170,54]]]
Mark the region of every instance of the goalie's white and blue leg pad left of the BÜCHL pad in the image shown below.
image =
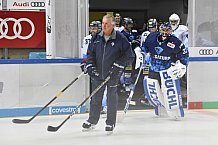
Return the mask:
[[[154,107],[164,107],[163,94],[160,89],[160,85],[157,80],[144,77],[143,81],[145,96],[147,97],[150,104]]]

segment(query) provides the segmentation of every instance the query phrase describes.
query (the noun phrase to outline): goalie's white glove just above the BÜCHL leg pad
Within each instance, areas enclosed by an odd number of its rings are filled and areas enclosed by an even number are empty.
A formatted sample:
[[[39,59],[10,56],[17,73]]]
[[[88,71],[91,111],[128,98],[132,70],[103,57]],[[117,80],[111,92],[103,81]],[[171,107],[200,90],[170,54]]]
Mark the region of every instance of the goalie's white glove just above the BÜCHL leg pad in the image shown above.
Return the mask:
[[[172,63],[172,66],[167,70],[167,72],[172,79],[180,79],[186,73],[186,66],[178,60],[176,63]]]

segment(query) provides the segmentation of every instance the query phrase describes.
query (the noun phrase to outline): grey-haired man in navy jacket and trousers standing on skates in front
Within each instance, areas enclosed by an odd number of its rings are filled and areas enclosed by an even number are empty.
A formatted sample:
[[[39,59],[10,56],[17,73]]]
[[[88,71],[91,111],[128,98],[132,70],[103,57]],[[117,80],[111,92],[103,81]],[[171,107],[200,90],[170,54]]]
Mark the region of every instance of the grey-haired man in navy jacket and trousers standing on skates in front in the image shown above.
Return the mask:
[[[118,105],[117,85],[125,66],[132,63],[134,54],[127,38],[114,30],[115,20],[105,15],[102,20],[102,31],[91,39],[87,51],[87,72],[92,80],[92,88],[97,88],[110,75],[107,86],[107,120],[105,131],[113,131],[116,124]],[[104,92],[102,87],[90,102],[89,118],[83,123],[86,130],[92,129],[99,121]]]

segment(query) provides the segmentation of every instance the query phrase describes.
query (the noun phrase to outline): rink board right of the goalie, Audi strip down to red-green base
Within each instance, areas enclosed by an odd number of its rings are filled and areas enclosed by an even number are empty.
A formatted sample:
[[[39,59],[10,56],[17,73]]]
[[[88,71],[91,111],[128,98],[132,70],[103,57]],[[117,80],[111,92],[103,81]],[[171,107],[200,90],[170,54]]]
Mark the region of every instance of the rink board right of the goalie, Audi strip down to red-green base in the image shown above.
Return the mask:
[[[202,54],[202,50],[211,53]],[[187,72],[188,109],[218,108],[218,48],[191,47]]]

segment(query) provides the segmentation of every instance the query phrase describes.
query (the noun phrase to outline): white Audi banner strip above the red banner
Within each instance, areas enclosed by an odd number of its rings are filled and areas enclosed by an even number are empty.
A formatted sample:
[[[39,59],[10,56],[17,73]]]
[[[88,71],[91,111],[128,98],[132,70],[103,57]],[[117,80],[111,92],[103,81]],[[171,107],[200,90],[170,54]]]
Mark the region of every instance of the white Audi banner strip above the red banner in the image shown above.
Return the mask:
[[[45,0],[8,0],[7,9],[45,9]]]

